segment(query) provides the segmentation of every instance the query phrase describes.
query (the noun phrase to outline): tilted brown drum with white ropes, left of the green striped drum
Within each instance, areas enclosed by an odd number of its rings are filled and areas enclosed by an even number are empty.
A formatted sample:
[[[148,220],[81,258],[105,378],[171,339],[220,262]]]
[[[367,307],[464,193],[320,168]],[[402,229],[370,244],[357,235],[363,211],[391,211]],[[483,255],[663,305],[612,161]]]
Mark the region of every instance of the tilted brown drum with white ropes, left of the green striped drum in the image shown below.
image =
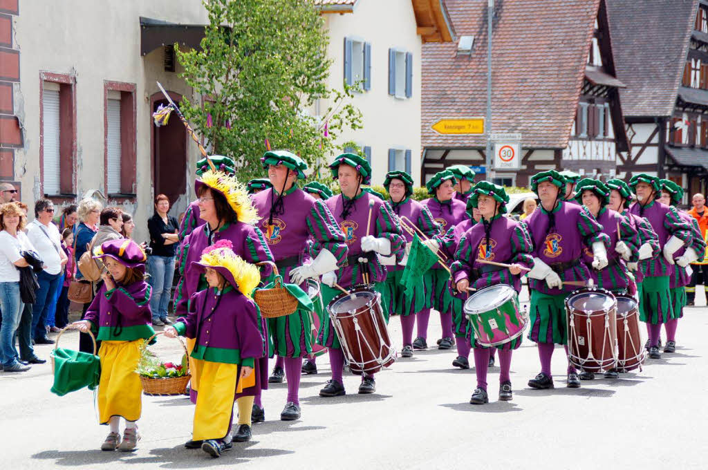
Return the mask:
[[[351,371],[373,374],[396,361],[396,349],[389,338],[381,294],[368,284],[355,285],[349,292],[342,292],[329,302],[329,319]]]

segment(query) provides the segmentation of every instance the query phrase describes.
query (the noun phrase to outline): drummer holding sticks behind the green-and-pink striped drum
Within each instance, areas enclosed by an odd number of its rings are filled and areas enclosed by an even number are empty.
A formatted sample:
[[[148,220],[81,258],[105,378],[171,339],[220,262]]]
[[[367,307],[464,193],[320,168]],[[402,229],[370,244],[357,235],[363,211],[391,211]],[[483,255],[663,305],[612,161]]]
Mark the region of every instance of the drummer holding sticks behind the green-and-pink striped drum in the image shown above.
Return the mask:
[[[506,213],[509,197],[499,185],[480,181],[474,186],[469,203],[479,210],[481,222],[464,233],[459,241],[459,248],[452,263],[452,275],[457,292],[467,292],[468,287],[480,290],[491,285],[506,284],[518,292],[521,290],[521,270],[531,268],[533,246],[524,224],[516,222]],[[481,263],[481,261],[508,263],[509,268]],[[512,399],[511,366],[512,350],[520,347],[523,335],[503,345],[498,345],[499,364],[499,400]],[[489,402],[486,375],[489,367],[489,351],[476,339],[474,345],[474,369],[477,386],[469,403],[481,405]]]

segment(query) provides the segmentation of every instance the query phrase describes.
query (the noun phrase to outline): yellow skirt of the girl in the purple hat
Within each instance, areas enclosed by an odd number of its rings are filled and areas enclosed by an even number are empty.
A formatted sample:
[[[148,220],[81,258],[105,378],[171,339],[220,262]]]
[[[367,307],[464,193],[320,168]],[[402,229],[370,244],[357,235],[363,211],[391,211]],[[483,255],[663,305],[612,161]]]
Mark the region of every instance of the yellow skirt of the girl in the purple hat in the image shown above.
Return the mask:
[[[101,381],[98,383],[98,423],[108,424],[111,416],[122,416],[128,421],[140,419],[142,411],[142,384],[135,372],[140,359],[140,345],[144,340],[103,341]]]

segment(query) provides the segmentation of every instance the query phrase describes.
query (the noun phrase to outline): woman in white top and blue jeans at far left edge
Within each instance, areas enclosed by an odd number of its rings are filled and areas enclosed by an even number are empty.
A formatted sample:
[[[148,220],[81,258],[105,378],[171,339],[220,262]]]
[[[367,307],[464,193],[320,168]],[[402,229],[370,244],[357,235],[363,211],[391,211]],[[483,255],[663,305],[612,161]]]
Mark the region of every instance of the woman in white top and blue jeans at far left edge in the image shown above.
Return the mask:
[[[24,372],[30,369],[18,361],[14,345],[15,332],[24,308],[20,297],[20,272],[17,268],[28,266],[20,253],[34,249],[22,231],[26,223],[27,217],[18,204],[7,203],[0,207],[0,306],[3,319],[0,328],[0,356],[5,372]]]

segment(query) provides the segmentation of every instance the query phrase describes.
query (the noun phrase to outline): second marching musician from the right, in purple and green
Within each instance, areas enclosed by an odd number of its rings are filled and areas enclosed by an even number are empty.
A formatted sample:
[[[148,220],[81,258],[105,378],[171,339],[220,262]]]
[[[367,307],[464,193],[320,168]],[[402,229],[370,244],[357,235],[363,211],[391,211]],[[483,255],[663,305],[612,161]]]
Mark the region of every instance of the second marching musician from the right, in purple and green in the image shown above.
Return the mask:
[[[675,207],[656,200],[661,190],[659,178],[656,176],[645,173],[632,176],[629,187],[636,194],[636,202],[629,207],[629,212],[649,220],[663,253],[663,256],[643,261],[647,268],[639,299],[639,319],[646,322],[649,328],[649,357],[660,359],[661,323],[673,318],[670,292],[670,276],[675,265],[673,257],[680,249],[690,245],[692,229],[690,223],[681,218]]]

